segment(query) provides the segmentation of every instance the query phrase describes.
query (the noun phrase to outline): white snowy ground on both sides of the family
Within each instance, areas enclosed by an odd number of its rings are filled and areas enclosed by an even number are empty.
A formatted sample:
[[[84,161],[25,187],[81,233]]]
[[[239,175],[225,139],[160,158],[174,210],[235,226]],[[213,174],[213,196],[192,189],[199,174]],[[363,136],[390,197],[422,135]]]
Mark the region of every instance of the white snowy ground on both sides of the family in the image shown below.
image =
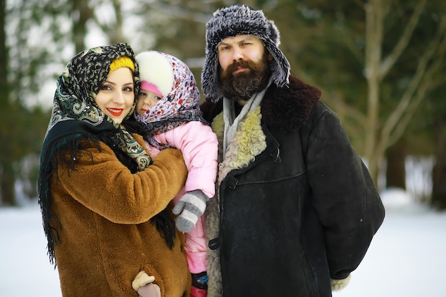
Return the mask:
[[[381,194],[386,217],[351,281],[333,297],[445,297],[446,212],[409,194]],[[0,296],[61,297],[36,202],[0,208]]]

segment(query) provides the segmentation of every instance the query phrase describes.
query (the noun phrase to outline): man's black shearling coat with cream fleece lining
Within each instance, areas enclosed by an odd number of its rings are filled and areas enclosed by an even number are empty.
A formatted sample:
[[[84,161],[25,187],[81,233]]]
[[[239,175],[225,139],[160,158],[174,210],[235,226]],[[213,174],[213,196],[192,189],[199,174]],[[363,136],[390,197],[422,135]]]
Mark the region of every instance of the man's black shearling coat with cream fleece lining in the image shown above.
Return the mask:
[[[208,296],[329,297],[365,256],[383,204],[319,96],[294,77],[271,85],[220,154],[206,213]],[[219,106],[203,105],[204,115]],[[212,127],[221,142],[222,114]]]

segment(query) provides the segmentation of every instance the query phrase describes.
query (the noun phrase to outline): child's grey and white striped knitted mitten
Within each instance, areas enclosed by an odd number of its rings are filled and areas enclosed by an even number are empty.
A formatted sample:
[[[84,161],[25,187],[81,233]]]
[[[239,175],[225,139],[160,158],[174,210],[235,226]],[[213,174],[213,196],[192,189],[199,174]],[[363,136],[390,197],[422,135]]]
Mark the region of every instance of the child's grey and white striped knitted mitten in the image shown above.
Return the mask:
[[[177,229],[182,232],[192,230],[195,224],[197,224],[198,218],[201,217],[204,209],[206,209],[208,200],[209,197],[199,189],[186,192],[172,209],[174,214],[181,213],[175,220]]]

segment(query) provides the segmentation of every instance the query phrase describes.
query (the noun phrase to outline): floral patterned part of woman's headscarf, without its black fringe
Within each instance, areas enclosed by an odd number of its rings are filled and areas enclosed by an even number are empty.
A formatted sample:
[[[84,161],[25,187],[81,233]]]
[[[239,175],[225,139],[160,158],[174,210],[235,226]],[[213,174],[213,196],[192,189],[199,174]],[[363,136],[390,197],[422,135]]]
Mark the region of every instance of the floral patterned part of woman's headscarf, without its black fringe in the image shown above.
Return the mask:
[[[133,139],[123,125],[115,123],[95,103],[95,96],[110,72],[110,64],[124,56],[133,61],[135,80],[138,80],[138,65],[135,63],[133,50],[125,43],[90,48],[78,53],[67,64],[66,71],[57,80],[48,132],[57,123],[66,120],[79,120],[93,126],[99,126],[106,121],[117,129],[117,137],[121,140],[118,142],[120,149],[138,163],[139,170],[144,170],[150,165],[150,157],[147,152]],[[136,95],[138,95],[138,88],[135,88]],[[130,118],[135,105],[136,100],[125,119]]]

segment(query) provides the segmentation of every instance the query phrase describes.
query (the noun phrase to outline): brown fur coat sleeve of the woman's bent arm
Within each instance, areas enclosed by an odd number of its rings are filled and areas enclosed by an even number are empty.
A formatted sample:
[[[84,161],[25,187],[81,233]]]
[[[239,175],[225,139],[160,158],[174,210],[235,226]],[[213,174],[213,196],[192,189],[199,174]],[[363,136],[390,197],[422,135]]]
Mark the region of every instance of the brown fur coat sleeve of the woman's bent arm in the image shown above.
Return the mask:
[[[111,222],[147,222],[167,207],[185,182],[187,171],[180,151],[165,150],[146,170],[132,174],[110,147],[104,145],[101,152],[89,150],[93,159],[80,158],[76,171],[59,174],[58,179],[71,197]]]

